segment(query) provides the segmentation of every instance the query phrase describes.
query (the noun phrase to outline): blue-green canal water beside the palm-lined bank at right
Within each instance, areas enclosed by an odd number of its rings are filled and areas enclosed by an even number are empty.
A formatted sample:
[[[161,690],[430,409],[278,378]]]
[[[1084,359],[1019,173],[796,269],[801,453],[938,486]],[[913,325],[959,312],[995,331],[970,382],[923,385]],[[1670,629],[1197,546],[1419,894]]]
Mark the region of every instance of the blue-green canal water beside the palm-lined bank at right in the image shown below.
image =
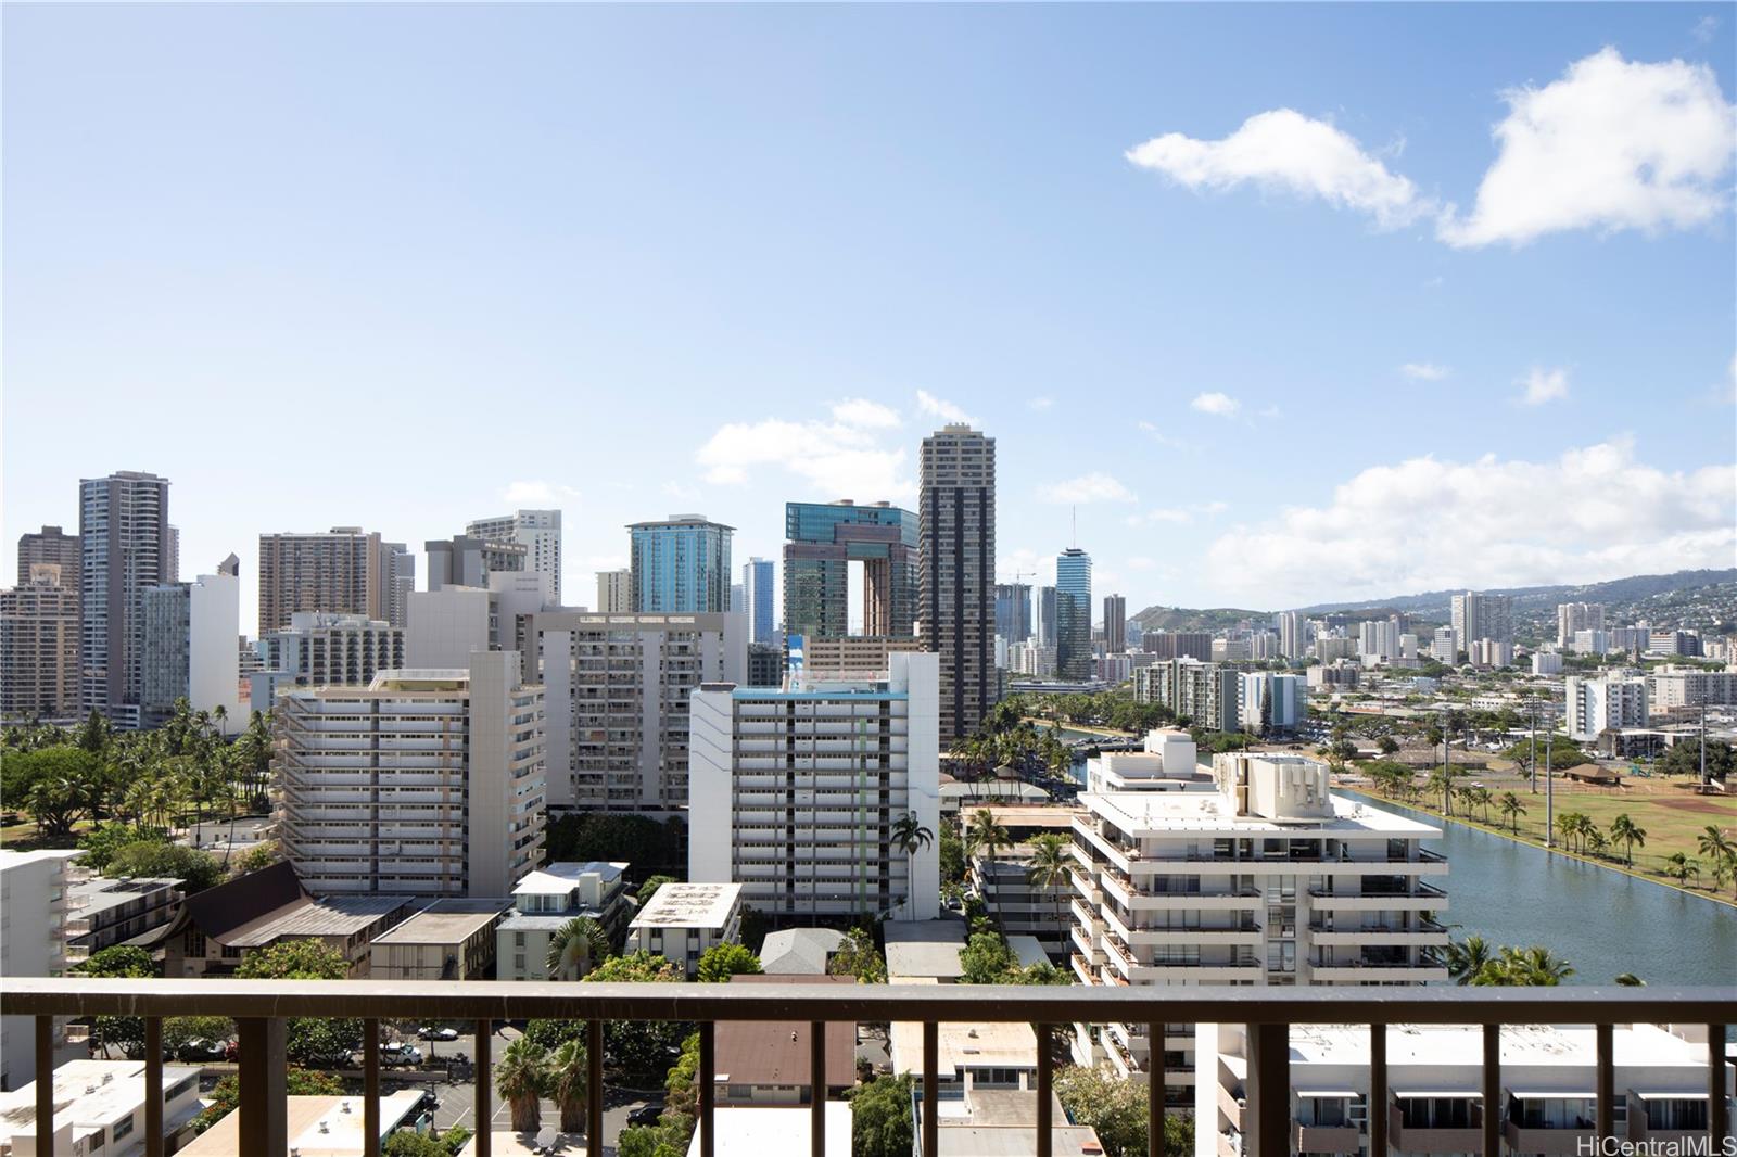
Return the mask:
[[[1648,985],[1737,983],[1737,910],[1723,903],[1386,799],[1339,794],[1442,827],[1442,839],[1424,846],[1447,856],[1442,922],[1456,938],[1541,943],[1574,966],[1574,985],[1608,985],[1621,973]]]

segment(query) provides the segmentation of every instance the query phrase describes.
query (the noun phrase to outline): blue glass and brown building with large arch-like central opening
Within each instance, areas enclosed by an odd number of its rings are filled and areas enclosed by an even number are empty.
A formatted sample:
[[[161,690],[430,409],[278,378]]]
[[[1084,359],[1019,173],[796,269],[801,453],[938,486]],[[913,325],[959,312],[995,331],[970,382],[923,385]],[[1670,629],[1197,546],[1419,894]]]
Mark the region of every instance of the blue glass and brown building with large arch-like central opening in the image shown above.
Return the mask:
[[[808,639],[851,634],[851,570],[862,566],[858,634],[914,636],[917,516],[888,502],[783,504],[783,629]]]

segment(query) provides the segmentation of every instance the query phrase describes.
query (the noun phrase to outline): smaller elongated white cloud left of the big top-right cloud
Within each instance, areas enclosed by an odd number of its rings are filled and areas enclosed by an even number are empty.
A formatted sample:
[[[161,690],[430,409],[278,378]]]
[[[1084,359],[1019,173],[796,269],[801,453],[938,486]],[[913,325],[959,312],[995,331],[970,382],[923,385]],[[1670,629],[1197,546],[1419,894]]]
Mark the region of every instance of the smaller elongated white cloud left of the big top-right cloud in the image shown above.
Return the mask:
[[[1384,229],[1405,226],[1435,208],[1417,186],[1388,172],[1357,139],[1289,108],[1256,113],[1223,141],[1167,132],[1124,156],[1190,189],[1256,184],[1369,214]]]

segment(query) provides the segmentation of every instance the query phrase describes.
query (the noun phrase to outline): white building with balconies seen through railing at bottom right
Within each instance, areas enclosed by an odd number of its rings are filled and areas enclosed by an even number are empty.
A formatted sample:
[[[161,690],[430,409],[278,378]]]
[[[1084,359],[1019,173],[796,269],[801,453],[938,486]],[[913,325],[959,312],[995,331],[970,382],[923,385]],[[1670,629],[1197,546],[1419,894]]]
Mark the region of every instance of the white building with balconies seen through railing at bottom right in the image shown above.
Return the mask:
[[[1681,1035],[1678,1035],[1681,1032]],[[1476,1154],[1485,1114],[1496,1112],[1503,1155],[1595,1150],[1598,1049],[1591,1025],[1508,1025],[1499,1037],[1494,1107],[1483,1103],[1483,1030],[1476,1025],[1390,1025],[1386,1089],[1370,1101],[1370,1032],[1357,1025],[1292,1025],[1291,1150],[1370,1152],[1370,1115],[1402,1154]],[[1199,1025],[1195,1055],[1195,1157],[1238,1157],[1245,1148],[1249,1039],[1245,1025]],[[1707,1133],[1706,1028],[1615,1025],[1614,1138],[1624,1152],[1692,1152]],[[1727,1096],[1730,1070],[1727,1070]],[[1673,1148],[1666,1148],[1673,1147]]]

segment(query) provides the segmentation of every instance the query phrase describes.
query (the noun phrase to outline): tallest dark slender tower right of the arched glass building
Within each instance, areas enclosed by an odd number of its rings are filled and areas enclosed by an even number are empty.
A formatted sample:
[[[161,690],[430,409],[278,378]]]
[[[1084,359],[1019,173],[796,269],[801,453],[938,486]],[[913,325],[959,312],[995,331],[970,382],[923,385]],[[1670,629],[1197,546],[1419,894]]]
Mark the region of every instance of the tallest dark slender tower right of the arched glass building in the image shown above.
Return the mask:
[[[941,742],[948,744],[974,731],[1001,693],[992,601],[995,440],[964,424],[924,438],[919,507],[919,634],[941,657]]]

